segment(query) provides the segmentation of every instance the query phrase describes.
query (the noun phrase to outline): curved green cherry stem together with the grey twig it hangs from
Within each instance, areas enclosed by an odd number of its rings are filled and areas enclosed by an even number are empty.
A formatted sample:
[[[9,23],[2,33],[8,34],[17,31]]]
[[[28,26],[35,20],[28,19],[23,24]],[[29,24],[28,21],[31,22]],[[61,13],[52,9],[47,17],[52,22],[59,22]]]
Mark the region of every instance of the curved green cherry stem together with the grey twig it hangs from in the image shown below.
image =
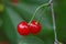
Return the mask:
[[[35,10],[35,12],[34,12],[34,14],[32,15],[31,21],[34,19],[36,12],[37,12],[42,7],[46,7],[46,6],[48,6],[48,4],[51,4],[50,7],[51,7],[51,10],[52,10],[52,18],[53,18],[53,30],[54,30],[54,35],[55,35],[55,42],[54,42],[54,44],[58,44],[57,32],[56,32],[56,24],[55,24],[55,16],[54,16],[55,14],[54,14],[54,9],[53,9],[53,0],[50,0],[48,3],[44,3],[44,4],[40,6],[40,7],[37,7],[36,10]],[[31,21],[29,22],[29,24],[31,23]]]

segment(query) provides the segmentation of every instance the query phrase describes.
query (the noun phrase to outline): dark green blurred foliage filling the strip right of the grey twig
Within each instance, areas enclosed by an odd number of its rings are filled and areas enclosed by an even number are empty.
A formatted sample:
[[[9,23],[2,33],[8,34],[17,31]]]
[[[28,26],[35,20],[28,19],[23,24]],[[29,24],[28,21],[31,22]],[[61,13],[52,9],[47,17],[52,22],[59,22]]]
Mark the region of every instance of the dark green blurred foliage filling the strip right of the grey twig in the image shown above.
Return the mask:
[[[56,0],[54,6],[58,40],[66,44],[66,0]]]

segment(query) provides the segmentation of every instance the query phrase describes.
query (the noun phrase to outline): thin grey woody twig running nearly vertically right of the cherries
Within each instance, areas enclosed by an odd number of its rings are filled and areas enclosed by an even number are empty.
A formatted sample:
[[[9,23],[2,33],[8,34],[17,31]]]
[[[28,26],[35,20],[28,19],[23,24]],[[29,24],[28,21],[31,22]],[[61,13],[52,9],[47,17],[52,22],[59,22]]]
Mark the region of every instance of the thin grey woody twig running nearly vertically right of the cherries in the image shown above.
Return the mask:
[[[50,0],[50,3],[51,3],[51,11],[52,11],[52,18],[53,18],[53,30],[54,30],[54,35],[55,35],[54,44],[58,44],[56,24],[55,24],[55,14],[54,14],[54,8],[53,8],[53,0]]]

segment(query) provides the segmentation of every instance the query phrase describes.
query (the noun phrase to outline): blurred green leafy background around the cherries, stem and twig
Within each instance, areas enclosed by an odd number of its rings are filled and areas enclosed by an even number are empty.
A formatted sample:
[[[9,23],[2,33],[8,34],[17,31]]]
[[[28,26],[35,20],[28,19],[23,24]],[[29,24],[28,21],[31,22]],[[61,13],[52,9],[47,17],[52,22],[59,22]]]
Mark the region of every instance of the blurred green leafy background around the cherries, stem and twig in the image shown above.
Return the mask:
[[[21,21],[29,22],[35,9],[48,0],[0,0],[0,44],[54,44],[54,31],[50,7],[41,8],[42,31],[36,35],[22,36],[16,32]],[[66,0],[53,0],[58,41],[66,44]]]

